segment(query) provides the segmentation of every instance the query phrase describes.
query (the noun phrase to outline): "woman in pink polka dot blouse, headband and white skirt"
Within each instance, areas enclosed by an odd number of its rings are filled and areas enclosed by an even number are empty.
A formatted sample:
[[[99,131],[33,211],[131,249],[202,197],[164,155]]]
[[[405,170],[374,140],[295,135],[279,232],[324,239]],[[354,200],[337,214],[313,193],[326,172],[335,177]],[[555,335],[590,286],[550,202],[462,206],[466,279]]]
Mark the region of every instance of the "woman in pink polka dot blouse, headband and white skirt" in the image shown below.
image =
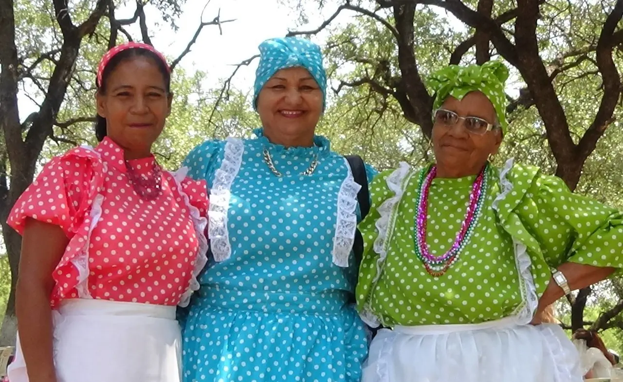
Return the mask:
[[[11,382],[179,382],[176,305],[206,264],[206,184],[161,170],[171,111],[150,45],[110,50],[97,75],[94,149],[55,157],[8,223],[23,236]]]

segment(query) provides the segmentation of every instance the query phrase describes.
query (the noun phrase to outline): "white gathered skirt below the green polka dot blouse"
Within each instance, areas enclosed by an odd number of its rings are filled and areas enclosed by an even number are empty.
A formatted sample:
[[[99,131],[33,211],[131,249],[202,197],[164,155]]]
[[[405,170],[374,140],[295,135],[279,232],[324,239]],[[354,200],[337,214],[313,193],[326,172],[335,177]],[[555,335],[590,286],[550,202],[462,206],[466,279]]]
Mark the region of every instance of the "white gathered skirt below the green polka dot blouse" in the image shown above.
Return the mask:
[[[578,352],[554,324],[379,330],[362,382],[582,382]]]

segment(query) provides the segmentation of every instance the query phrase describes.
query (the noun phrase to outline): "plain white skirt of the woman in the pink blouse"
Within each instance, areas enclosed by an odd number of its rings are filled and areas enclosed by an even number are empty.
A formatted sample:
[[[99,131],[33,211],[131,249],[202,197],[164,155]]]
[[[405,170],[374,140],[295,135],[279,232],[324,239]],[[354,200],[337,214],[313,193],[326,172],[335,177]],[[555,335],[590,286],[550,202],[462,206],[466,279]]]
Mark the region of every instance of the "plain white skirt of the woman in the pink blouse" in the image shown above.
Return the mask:
[[[65,300],[52,311],[58,382],[180,382],[181,330],[175,310],[133,302]],[[10,382],[29,382],[19,333],[7,374]]]

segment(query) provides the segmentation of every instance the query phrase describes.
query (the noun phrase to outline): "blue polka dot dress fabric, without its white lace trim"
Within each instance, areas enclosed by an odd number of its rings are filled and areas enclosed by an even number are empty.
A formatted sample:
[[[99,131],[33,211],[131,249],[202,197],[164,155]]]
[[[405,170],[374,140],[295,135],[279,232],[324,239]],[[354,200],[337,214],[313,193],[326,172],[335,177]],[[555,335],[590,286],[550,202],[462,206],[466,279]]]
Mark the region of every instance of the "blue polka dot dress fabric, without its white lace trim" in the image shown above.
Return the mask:
[[[350,305],[357,270],[332,255],[348,166],[322,137],[318,147],[285,149],[256,134],[241,141],[230,187],[231,256],[211,259],[183,322],[184,381],[359,381],[367,343]],[[191,176],[212,184],[225,146],[194,149],[184,163]],[[316,171],[299,175],[314,154]]]

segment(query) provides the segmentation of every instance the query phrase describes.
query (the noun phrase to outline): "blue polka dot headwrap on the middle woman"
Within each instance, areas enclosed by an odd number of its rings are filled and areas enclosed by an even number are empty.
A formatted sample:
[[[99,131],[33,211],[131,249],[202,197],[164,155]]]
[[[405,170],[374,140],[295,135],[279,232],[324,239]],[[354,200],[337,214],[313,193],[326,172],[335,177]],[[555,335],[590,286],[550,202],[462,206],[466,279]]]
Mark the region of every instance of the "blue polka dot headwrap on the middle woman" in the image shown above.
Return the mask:
[[[322,106],[326,100],[326,73],[322,65],[320,47],[300,37],[268,39],[262,42],[260,64],[255,71],[253,107],[257,109],[257,96],[262,86],[279,70],[292,67],[307,69],[322,91]]]

